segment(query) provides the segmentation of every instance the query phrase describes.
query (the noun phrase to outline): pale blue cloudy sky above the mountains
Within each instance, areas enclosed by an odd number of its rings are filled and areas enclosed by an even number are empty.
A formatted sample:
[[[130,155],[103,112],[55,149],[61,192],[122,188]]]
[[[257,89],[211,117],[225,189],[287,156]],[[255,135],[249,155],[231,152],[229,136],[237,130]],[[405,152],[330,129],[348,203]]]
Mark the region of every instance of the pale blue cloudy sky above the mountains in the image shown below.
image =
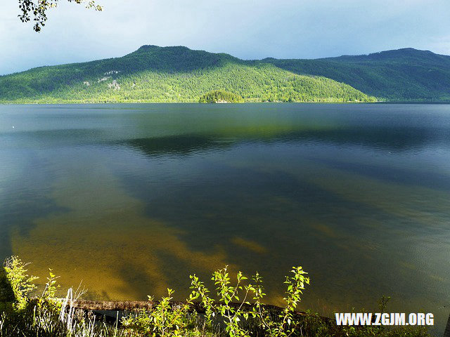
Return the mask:
[[[243,59],[406,47],[450,55],[449,0],[97,0],[102,12],[59,1],[36,33],[18,19],[18,0],[2,0],[0,74],[118,57],[144,44]]]

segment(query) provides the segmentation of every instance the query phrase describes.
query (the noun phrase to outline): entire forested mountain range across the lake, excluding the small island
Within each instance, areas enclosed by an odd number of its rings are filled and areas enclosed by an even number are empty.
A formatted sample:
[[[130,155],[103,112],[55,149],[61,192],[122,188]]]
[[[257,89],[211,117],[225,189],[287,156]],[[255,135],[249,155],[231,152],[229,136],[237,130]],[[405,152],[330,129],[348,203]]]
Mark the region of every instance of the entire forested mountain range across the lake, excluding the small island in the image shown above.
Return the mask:
[[[413,49],[247,61],[181,46],[142,46],[122,58],[1,76],[0,103],[198,102],[212,91],[245,102],[450,100],[449,75],[449,56]]]

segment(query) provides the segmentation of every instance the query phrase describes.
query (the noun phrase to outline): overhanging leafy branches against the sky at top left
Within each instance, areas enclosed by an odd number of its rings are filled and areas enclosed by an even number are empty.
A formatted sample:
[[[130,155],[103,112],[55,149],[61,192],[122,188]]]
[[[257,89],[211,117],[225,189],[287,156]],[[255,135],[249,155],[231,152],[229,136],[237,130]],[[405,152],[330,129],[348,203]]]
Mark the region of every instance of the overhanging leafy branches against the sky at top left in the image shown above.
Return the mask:
[[[86,8],[94,8],[96,11],[101,11],[102,7],[97,5],[94,0],[68,0],[76,4],[86,4]],[[19,8],[22,12],[19,18],[22,22],[34,22],[33,29],[40,32],[47,20],[47,11],[58,6],[58,0],[19,0]]]

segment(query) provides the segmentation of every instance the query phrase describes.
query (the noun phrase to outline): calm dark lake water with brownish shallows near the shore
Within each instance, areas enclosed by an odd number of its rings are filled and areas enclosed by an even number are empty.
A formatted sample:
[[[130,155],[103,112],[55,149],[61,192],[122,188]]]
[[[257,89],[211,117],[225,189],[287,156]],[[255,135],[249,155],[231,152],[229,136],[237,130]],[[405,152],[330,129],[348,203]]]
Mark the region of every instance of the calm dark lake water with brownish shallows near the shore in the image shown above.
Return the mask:
[[[0,106],[0,258],[87,298],[309,272],[301,309],[450,303],[450,105]]]

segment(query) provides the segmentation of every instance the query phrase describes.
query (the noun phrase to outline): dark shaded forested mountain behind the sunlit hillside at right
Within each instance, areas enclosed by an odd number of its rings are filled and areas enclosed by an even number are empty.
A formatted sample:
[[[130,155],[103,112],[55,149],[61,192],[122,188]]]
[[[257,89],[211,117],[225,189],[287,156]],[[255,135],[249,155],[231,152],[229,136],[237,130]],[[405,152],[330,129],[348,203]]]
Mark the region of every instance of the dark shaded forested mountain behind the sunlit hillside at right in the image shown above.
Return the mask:
[[[269,62],[296,74],[345,82],[386,100],[450,100],[450,56],[404,48],[369,55]]]

